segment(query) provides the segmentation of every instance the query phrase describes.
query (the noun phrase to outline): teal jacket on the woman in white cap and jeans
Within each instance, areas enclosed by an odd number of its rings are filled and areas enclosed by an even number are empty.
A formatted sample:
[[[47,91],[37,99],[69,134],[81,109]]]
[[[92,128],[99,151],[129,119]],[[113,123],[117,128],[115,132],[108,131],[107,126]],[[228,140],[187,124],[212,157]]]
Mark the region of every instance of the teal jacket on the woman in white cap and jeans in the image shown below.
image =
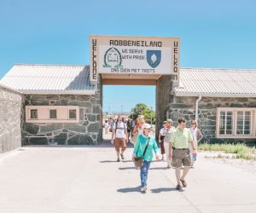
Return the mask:
[[[133,156],[142,157],[147,143],[148,143],[148,138],[146,138],[143,135],[138,135],[137,141],[136,141],[136,144],[135,144],[135,147],[133,150]],[[147,148],[146,153],[144,154],[143,159],[146,161],[152,161],[153,160],[153,151],[155,154],[157,154],[158,147],[157,147],[156,141],[154,139],[154,136],[150,136],[148,148]]]

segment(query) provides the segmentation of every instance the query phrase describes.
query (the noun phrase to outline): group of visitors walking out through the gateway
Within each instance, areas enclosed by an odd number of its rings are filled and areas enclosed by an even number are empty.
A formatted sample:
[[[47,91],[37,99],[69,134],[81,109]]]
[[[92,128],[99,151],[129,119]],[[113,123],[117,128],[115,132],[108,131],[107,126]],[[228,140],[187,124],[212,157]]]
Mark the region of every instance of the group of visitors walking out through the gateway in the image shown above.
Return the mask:
[[[177,178],[177,190],[181,187],[187,187],[185,177],[188,175],[189,169],[195,163],[197,143],[201,140],[201,131],[197,128],[196,121],[191,122],[191,128],[186,128],[186,119],[178,118],[177,128],[173,127],[172,119],[167,119],[160,130],[160,153],[162,160],[165,159],[167,168],[171,166],[175,169]],[[140,167],[141,191],[147,192],[148,170],[150,163],[154,158],[160,160],[159,148],[155,141],[154,135],[150,134],[151,125],[145,122],[143,116],[137,118],[137,124],[132,130],[131,142],[134,144],[132,159],[136,157],[143,158],[143,165]],[[115,150],[117,161],[124,159],[126,143],[128,143],[127,125],[119,116],[118,121],[113,124],[111,143],[115,142]],[[193,158],[194,157],[194,158]],[[181,168],[183,166],[183,174]]]

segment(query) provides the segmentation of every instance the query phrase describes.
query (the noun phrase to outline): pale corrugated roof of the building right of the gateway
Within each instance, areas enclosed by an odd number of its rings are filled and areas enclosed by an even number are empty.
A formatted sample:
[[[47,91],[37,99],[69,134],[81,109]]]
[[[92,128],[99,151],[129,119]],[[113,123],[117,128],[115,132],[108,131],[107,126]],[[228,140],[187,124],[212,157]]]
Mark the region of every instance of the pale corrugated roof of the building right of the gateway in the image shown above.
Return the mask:
[[[181,68],[175,95],[256,97],[256,70]]]

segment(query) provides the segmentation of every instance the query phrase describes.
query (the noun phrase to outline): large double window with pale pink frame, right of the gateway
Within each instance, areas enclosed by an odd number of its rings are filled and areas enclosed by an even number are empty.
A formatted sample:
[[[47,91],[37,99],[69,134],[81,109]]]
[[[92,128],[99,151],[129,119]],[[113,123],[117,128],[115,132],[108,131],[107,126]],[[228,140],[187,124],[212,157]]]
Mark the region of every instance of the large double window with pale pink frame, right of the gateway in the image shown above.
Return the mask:
[[[217,137],[256,137],[256,108],[219,107],[217,112]]]

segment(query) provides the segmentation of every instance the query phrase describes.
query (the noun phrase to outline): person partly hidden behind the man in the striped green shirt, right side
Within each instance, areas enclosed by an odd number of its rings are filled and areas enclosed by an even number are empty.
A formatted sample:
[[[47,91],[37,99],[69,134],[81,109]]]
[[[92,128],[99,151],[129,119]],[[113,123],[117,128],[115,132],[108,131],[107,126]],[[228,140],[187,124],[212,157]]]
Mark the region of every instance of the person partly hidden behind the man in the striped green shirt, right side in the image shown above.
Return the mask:
[[[199,130],[197,128],[197,122],[195,120],[192,120],[191,127],[190,127],[189,130],[192,134],[193,141],[194,141],[194,144],[195,144],[195,152],[197,153],[197,145],[198,145],[198,142],[201,141],[203,135],[201,134],[201,130]],[[190,158],[191,158],[191,168],[194,168],[195,159],[194,159],[194,156],[193,156],[193,149],[192,149],[192,146],[190,144],[189,144],[189,151],[190,151]],[[195,156],[196,156],[196,153],[194,153]]]

